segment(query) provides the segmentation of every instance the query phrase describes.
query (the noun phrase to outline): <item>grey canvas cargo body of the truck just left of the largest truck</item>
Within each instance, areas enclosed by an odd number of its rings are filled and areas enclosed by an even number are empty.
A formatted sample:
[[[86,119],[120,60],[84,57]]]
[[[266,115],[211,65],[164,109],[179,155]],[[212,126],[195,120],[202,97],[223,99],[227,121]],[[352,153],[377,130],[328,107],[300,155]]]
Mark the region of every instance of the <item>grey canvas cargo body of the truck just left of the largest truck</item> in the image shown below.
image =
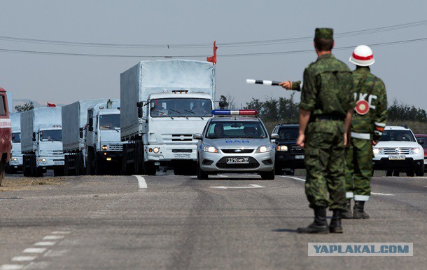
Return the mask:
[[[78,100],[62,107],[62,149],[65,175],[84,175],[87,109],[108,99]]]

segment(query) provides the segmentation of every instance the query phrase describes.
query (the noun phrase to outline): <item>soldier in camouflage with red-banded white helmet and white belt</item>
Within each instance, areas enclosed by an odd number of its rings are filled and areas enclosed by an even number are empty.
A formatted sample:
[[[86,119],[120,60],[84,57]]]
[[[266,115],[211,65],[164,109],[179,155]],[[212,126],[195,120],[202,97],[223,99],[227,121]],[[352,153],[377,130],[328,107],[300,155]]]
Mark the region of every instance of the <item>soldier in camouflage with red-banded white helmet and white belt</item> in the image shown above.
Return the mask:
[[[370,72],[374,60],[372,50],[356,47],[350,62],[353,71],[355,113],[351,120],[351,140],[346,149],[346,210],[343,218],[367,219],[365,201],[370,197],[372,177],[372,144],[377,144],[387,121],[387,95],[384,82]],[[351,198],[354,199],[351,215]]]

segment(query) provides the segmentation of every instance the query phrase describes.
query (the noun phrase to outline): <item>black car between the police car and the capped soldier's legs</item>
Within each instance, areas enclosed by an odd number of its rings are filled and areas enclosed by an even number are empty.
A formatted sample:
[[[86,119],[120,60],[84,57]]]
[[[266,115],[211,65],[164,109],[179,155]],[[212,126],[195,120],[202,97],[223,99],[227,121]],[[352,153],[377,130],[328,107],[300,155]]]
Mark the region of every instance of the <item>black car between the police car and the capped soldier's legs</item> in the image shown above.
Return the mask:
[[[293,175],[295,169],[304,169],[304,149],[297,146],[298,124],[282,123],[273,128],[273,133],[279,134],[276,140],[276,175],[281,175],[283,170],[288,175]]]

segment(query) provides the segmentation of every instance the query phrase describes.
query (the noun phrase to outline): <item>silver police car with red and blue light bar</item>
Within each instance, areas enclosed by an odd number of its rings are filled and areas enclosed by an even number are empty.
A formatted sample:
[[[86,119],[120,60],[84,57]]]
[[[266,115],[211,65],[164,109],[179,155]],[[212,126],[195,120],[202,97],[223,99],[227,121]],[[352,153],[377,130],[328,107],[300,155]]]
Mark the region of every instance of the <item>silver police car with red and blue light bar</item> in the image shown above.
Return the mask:
[[[258,173],[274,180],[275,144],[279,135],[269,136],[258,112],[214,109],[197,142],[197,178],[208,179],[217,173]]]

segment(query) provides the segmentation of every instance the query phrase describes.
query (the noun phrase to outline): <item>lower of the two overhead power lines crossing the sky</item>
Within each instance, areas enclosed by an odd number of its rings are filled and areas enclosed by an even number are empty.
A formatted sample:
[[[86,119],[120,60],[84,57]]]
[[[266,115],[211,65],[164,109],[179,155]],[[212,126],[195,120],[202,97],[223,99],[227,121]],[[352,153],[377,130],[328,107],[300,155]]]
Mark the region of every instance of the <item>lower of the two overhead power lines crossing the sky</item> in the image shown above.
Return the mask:
[[[367,44],[371,47],[379,46],[390,46],[398,45],[403,43],[413,43],[427,41],[427,37],[421,39],[406,39],[402,41],[389,41],[383,43],[372,43]],[[342,46],[336,47],[334,50],[347,50],[352,49],[354,46]],[[27,53],[27,54],[40,54],[40,55],[64,55],[64,56],[87,56],[87,57],[108,57],[108,58],[206,58],[207,55],[106,55],[106,54],[92,54],[92,53],[57,53],[40,50],[13,50],[0,48],[0,52],[5,53]],[[244,57],[244,56],[262,56],[262,55],[288,55],[297,53],[312,53],[313,49],[310,50],[287,50],[287,51],[276,51],[266,53],[230,53],[230,54],[218,54],[218,57]]]

